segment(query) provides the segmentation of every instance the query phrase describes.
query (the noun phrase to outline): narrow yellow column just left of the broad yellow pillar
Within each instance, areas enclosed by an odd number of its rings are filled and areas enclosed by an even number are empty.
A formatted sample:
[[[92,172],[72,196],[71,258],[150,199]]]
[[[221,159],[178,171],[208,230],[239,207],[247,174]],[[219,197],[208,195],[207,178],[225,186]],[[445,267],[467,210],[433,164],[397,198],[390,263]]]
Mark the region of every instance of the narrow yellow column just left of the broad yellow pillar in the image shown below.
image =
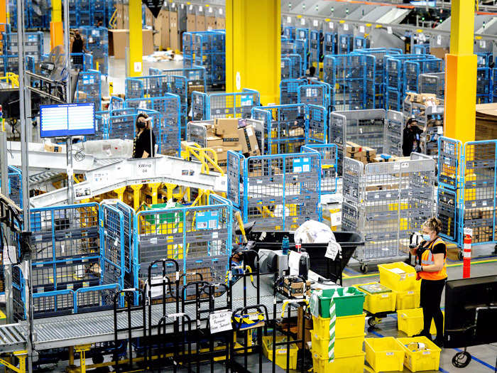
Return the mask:
[[[129,75],[139,77],[142,72],[143,37],[141,0],[129,0]]]

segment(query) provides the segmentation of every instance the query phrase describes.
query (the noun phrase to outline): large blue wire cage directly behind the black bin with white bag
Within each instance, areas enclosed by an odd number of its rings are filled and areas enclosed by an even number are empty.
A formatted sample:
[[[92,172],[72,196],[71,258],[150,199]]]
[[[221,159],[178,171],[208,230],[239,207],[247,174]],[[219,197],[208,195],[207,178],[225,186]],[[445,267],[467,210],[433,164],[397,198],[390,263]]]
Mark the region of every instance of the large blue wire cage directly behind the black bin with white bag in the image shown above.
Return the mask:
[[[228,151],[227,198],[257,230],[294,230],[321,220],[320,154],[251,156]]]

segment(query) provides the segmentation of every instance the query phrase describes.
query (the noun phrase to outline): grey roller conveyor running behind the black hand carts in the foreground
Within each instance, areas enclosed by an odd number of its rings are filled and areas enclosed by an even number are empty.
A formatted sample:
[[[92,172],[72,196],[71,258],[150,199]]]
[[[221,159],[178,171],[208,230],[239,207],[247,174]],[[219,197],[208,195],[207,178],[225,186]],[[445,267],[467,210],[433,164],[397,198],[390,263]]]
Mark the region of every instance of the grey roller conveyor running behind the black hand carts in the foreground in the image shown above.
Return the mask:
[[[247,281],[248,306],[256,305],[256,289]],[[237,281],[233,288],[232,308],[242,308],[244,306],[243,298],[243,281]],[[283,296],[278,296],[283,300]],[[216,307],[226,305],[226,294],[215,299]],[[273,318],[273,291],[271,290],[271,278],[261,276],[261,304],[268,308],[269,318]],[[277,315],[281,312],[281,304],[277,306]],[[207,310],[207,303],[202,303],[202,310]],[[181,309],[180,309],[181,311]],[[176,313],[175,303],[166,305],[166,313]],[[195,304],[185,306],[185,313],[190,318],[195,319]],[[155,304],[152,306],[152,325],[157,325],[163,316],[163,305]],[[202,315],[205,318],[207,315]],[[118,327],[126,328],[128,315],[126,313],[118,314]],[[146,323],[148,325],[148,308],[146,309]],[[143,314],[141,311],[133,311],[131,315],[131,324],[133,327],[139,327],[143,323]],[[205,325],[202,325],[204,327]],[[9,328],[7,328],[9,327]],[[148,329],[148,328],[147,328]],[[26,349],[25,339],[27,325],[2,325],[0,327],[0,351],[11,352]],[[156,330],[153,331],[153,334]],[[4,337],[5,335],[5,337]],[[35,320],[33,327],[35,339],[35,350],[48,350],[50,348],[67,347],[74,345],[83,345],[95,342],[107,342],[114,340],[114,311],[103,310],[91,313],[79,313],[75,315],[56,316],[52,318],[41,318]],[[9,337],[8,337],[9,336]],[[133,330],[132,337],[143,336],[143,330]],[[120,333],[119,339],[126,339],[127,332]],[[26,337],[24,337],[26,338]]]

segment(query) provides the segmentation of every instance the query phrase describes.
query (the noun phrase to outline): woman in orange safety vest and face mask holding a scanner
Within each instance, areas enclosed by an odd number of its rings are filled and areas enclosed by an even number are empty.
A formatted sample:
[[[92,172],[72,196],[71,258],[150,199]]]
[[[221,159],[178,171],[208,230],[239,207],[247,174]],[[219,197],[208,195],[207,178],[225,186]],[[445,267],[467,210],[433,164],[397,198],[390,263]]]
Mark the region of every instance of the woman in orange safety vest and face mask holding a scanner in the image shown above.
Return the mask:
[[[442,291],[447,282],[447,246],[439,237],[442,223],[436,217],[430,217],[422,225],[421,244],[410,249],[417,258],[416,272],[421,280],[420,306],[423,313],[423,329],[417,336],[425,336],[431,340],[430,326],[435,320],[437,337],[435,345],[443,347],[444,344],[444,315],[440,309]]]

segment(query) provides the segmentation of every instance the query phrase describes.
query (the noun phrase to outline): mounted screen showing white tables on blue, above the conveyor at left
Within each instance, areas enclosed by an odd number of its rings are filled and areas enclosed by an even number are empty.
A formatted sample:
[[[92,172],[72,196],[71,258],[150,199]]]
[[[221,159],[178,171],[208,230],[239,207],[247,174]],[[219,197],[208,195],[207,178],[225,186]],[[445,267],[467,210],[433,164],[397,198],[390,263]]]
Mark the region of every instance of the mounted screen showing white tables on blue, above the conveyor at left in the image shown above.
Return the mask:
[[[94,134],[94,102],[40,105],[41,137],[67,137]]]

